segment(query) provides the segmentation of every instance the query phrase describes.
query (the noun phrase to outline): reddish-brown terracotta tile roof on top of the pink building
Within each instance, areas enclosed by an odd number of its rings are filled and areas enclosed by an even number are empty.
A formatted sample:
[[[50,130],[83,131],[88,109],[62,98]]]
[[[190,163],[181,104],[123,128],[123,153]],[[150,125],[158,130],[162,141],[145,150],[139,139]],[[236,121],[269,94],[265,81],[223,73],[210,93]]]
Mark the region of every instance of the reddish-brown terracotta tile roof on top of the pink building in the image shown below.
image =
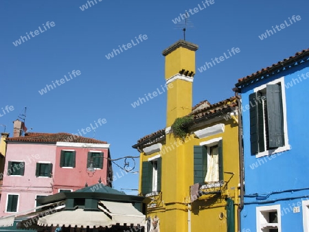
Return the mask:
[[[26,133],[24,137],[10,137],[6,141],[21,141],[21,142],[38,142],[38,143],[56,143],[56,142],[71,142],[71,143],[104,143],[97,139],[91,139],[78,135],[72,135],[65,132],[59,133]]]

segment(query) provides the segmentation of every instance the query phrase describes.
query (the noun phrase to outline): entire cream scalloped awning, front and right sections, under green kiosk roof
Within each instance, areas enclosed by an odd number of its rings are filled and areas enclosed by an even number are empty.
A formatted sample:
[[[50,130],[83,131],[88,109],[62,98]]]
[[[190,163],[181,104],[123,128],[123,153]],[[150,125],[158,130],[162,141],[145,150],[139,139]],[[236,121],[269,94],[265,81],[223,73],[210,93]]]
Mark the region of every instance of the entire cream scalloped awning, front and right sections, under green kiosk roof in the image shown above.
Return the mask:
[[[84,209],[62,210],[38,219],[42,227],[144,227],[146,216],[131,203],[110,202],[101,200],[98,208],[101,211],[84,211]]]

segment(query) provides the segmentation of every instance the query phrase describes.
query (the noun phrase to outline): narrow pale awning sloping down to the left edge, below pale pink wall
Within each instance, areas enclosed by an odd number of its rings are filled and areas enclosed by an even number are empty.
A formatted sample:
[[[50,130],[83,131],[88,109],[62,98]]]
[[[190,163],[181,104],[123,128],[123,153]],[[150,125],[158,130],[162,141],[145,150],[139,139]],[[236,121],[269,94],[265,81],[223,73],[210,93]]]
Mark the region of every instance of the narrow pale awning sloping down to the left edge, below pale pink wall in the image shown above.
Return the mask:
[[[27,211],[17,212],[17,213],[10,215],[10,216],[1,217],[0,218],[0,227],[10,227],[10,226],[12,226],[14,224],[14,220],[15,220],[16,217],[23,216],[25,218],[25,217],[30,217],[30,216],[37,216],[39,213],[43,212],[42,210],[36,211],[37,209],[42,209],[44,207],[49,207],[49,206],[57,206],[55,209],[64,207],[63,205],[60,205],[62,203],[63,203],[62,201],[54,202],[54,203],[50,203],[50,204],[47,204],[47,205],[38,206],[38,207],[35,207],[33,209],[29,209]],[[50,209],[47,209],[45,211],[50,211]],[[27,214],[25,214],[25,213],[27,213]]]

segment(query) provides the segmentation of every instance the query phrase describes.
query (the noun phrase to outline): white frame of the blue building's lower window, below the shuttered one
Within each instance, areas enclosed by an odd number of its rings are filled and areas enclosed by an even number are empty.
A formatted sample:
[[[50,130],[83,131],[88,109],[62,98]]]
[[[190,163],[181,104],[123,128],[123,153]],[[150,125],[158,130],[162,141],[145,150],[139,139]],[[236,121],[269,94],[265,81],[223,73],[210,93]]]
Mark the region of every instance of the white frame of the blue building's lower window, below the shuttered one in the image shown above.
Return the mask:
[[[262,219],[264,216],[262,213],[270,212],[270,211],[277,211],[277,223],[262,223]],[[282,232],[281,227],[281,205],[267,205],[267,206],[260,206],[256,207],[256,231],[262,231],[262,224],[277,224],[278,232]]]

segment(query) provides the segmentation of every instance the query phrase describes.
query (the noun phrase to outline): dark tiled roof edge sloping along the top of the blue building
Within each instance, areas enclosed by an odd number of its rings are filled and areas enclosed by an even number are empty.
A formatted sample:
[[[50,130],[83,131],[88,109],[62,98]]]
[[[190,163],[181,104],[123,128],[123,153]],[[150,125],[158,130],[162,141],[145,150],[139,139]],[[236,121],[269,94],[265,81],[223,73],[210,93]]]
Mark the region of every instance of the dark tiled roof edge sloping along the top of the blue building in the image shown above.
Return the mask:
[[[289,58],[285,58],[284,60],[279,61],[279,62],[277,62],[277,63],[275,63],[275,64],[273,64],[273,65],[271,65],[269,67],[266,67],[264,69],[261,69],[260,71],[257,71],[256,73],[252,73],[249,76],[246,76],[244,78],[238,79],[238,83],[236,84],[236,86],[240,86],[244,82],[248,82],[249,80],[258,78],[258,76],[260,74],[264,74],[265,75],[267,73],[271,73],[271,72],[274,71],[273,69],[280,69],[280,68],[283,67],[282,65],[287,65],[289,62],[296,62],[297,59],[303,58],[305,56],[309,56],[309,49],[304,49],[302,51],[298,51],[295,54],[295,56],[290,56]]]

